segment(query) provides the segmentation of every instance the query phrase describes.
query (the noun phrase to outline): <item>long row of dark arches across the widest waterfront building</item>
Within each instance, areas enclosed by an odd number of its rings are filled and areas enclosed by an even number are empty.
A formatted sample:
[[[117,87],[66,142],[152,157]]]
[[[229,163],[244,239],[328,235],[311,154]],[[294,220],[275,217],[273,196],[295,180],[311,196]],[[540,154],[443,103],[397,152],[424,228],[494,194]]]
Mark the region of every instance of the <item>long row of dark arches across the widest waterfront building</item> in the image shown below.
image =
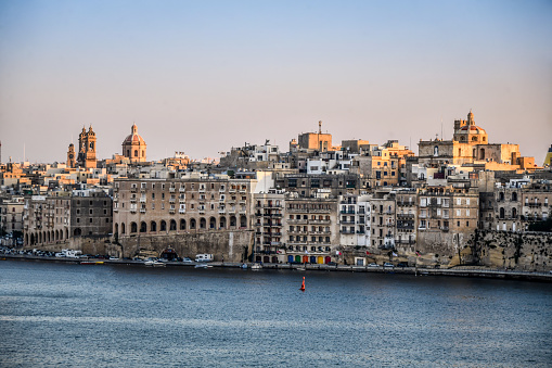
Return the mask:
[[[200,217],[200,219],[190,218],[188,221],[181,218],[178,223],[176,219],[166,221],[131,221],[130,224],[115,223],[115,233],[137,233],[137,232],[166,232],[166,231],[185,231],[185,230],[216,230],[216,229],[245,229],[247,228],[247,216],[241,215],[240,217],[222,216],[218,220],[216,217]]]

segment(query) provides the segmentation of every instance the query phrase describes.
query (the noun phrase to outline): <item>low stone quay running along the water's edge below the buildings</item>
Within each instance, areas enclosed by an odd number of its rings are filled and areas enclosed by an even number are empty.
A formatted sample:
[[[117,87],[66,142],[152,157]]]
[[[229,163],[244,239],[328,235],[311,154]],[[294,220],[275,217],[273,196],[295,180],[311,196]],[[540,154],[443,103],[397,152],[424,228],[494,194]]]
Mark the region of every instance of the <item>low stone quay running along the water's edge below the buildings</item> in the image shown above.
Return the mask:
[[[54,263],[73,263],[80,264],[80,262],[101,262],[102,265],[131,265],[143,266],[141,261],[131,259],[100,259],[100,258],[55,258],[43,257],[36,255],[22,255],[22,254],[2,254],[0,261],[33,261],[33,262],[54,262]],[[194,268],[197,264],[203,263],[182,263],[182,262],[166,262],[167,267],[190,267]],[[209,262],[209,266],[218,268],[240,268],[242,263],[222,263]],[[248,270],[251,270],[251,263],[247,263]],[[474,266],[480,267],[480,266]],[[552,282],[552,274],[550,272],[532,272],[532,271],[516,271],[516,270],[498,270],[488,268],[415,268],[415,267],[370,267],[370,266],[350,266],[350,265],[310,265],[310,264],[264,264],[262,269],[287,269],[298,272],[306,271],[341,271],[341,272],[375,272],[375,274],[402,274],[415,276],[449,276],[449,277],[471,277],[471,278],[490,278],[502,280],[522,280],[522,281],[541,281]],[[256,270],[258,271],[258,270]]]

